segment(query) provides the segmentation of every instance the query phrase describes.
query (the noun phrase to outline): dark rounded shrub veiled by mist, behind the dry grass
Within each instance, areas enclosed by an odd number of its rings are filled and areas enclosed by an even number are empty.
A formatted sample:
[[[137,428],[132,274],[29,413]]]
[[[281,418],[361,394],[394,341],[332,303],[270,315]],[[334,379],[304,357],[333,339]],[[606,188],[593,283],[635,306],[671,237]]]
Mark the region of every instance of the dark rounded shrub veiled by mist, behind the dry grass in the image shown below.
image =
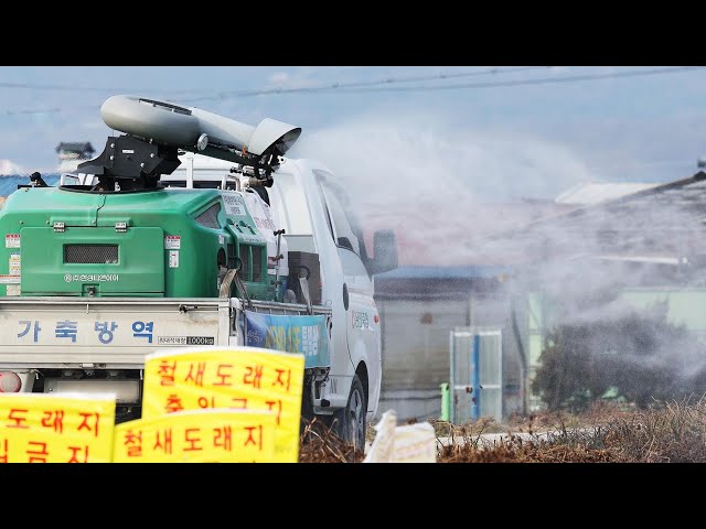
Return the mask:
[[[549,410],[585,410],[609,389],[641,408],[706,390],[706,346],[666,305],[552,328],[532,384]]]

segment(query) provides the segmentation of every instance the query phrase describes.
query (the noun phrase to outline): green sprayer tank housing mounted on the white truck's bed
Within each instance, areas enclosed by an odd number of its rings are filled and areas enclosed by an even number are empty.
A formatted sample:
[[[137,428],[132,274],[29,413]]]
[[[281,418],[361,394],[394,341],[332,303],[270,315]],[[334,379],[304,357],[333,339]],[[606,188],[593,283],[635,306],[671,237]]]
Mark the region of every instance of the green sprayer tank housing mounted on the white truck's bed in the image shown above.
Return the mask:
[[[215,298],[240,266],[271,299],[266,240],[232,193],[20,188],[0,209],[0,295]]]

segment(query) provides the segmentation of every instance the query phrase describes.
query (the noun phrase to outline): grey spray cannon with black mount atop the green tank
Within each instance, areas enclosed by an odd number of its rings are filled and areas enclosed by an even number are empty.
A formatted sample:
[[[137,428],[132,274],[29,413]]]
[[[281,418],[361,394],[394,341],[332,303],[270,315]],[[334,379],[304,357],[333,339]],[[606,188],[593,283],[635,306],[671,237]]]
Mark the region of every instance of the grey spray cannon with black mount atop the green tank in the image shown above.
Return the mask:
[[[135,96],[106,99],[100,116],[125,136],[108,138],[104,152],[79,169],[106,187],[116,179],[133,181],[121,185],[126,191],[157,187],[160,175],[179,166],[178,154],[184,151],[234,162],[231,172],[259,181],[250,185],[269,187],[271,173],[301,133],[301,128],[275,119],[253,127],[195,107]]]

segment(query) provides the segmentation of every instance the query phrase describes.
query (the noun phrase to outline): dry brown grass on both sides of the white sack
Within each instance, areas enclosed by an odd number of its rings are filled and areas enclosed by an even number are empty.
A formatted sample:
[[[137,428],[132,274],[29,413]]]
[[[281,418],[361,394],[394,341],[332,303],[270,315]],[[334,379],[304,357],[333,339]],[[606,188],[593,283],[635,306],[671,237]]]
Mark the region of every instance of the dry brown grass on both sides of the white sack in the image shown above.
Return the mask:
[[[706,462],[706,398],[655,402],[645,411],[602,406],[584,415],[516,417],[502,425],[486,419],[460,425],[430,422],[439,463]],[[506,434],[485,441],[484,434],[499,430]],[[303,463],[364,458],[315,421],[304,429],[300,454]]]

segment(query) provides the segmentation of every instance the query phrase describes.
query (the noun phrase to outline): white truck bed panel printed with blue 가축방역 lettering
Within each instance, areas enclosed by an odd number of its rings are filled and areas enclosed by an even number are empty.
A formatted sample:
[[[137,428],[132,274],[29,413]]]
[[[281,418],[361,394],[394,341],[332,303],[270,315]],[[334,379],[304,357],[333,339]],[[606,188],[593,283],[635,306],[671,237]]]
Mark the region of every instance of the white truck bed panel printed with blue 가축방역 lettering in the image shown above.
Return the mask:
[[[244,345],[238,299],[4,298],[0,367],[141,369],[145,356],[188,346]],[[307,305],[253,301],[245,309],[304,315]],[[331,310],[313,306],[330,317]]]

